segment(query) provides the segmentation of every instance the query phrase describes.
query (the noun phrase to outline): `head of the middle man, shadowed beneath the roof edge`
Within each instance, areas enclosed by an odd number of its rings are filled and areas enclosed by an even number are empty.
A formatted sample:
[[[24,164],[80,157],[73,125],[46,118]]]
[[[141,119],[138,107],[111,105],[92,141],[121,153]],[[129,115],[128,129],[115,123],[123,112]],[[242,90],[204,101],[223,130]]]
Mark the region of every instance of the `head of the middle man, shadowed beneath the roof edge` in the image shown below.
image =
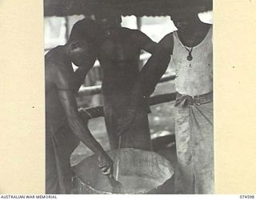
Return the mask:
[[[104,34],[111,34],[112,31],[121,27],[122,18],[121,14],[118,14],[117,10],[106,9],[97,11],[95,18]]]

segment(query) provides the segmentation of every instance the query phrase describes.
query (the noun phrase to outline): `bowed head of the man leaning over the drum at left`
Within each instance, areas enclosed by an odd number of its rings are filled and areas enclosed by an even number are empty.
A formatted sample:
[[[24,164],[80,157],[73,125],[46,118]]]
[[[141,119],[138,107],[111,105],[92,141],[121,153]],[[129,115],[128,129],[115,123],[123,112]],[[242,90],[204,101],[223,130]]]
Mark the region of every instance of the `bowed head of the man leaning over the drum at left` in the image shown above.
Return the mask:
[[[94,65],[98,46],[98,26],[88,18],[74,24],[66,46],[76,66]]]

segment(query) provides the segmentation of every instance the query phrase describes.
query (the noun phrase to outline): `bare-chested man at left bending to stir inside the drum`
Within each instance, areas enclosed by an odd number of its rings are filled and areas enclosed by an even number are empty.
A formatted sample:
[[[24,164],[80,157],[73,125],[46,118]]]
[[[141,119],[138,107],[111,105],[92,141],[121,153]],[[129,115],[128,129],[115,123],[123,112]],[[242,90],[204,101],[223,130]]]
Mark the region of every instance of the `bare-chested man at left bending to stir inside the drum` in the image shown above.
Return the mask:
[[[75,100],[96,58],[96,50],[88,42],[90,39],[86,38],[84,27],[93,30],[93,21],[77,22],[66,45],[55,47],[45,56],[46,194],[70,194],[70,155],[79,141],[98,156],[103,174],[112,172],[112,160],[90,134],[87,122],[78,114]],[[79,67],[75,72],[72,62]]]

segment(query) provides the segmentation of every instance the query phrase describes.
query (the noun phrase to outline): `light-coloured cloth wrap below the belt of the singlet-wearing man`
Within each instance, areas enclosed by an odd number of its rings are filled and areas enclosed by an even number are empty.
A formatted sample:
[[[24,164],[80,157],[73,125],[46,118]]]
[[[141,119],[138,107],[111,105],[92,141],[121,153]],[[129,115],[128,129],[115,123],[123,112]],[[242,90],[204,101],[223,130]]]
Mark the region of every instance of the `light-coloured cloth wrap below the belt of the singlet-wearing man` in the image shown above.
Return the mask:
[[[213,102],[176,107],[175,137],[185,194],[214,194]]]

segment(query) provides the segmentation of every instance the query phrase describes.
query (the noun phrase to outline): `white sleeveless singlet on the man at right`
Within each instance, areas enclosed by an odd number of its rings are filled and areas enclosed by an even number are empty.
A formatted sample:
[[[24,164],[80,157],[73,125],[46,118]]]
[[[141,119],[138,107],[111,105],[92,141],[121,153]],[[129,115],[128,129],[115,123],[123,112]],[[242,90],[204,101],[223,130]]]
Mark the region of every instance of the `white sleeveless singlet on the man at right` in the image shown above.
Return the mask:
[[[206,37],[194,46],[191,61],[187,60],[190,47],[186,48],[174,32],[174,50],[171,66],[176,72],[175,86],[179,94],[196,96],[213,90],[213,42],[212,26]]]

